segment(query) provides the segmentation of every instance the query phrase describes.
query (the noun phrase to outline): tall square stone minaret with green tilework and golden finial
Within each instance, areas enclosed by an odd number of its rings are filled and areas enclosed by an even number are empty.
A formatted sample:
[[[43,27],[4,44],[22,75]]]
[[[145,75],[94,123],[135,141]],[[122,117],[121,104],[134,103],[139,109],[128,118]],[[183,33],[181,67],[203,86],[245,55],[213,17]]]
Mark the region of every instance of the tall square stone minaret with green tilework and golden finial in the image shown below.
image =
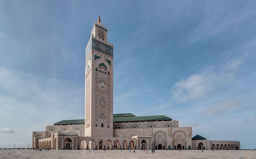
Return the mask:
[[[85,57],[85,136],[113,137],[113,44],[100,16]]]

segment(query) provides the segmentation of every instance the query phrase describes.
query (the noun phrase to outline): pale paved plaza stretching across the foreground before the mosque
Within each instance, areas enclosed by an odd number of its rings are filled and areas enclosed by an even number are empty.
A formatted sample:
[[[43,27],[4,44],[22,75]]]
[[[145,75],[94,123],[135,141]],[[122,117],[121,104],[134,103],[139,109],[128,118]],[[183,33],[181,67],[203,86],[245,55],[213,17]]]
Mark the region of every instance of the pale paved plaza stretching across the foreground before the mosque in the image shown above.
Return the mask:
[[[155,154],[145,154],[143,150],[136,150],[136,153],[129,153],[129,150],[50,150],[50,151],[34,151],[34,150],[1,150],[0,159],[86,159],[86,158],[124,158],[124,159],[256,159],[256,151],[252,150],[218,150],[213,152],[211,150],[156,150]]]

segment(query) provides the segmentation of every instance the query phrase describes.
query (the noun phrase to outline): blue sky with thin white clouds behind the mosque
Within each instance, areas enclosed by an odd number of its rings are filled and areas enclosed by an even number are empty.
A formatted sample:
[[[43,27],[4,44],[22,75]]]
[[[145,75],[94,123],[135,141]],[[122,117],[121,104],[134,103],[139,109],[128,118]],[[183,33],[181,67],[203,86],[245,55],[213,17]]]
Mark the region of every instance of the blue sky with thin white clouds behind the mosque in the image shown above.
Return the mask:
[[[114,113],[256,145],[256,1],[0,0],[0,147],[84,119],[85,47],[114,43]]]

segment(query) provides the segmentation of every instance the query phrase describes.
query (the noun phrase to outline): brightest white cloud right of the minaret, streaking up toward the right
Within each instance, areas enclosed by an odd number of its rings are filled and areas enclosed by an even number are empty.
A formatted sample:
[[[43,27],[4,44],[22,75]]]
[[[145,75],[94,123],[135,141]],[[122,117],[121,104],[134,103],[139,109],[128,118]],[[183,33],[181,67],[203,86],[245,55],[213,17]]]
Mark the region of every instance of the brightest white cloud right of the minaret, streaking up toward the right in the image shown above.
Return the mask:
[[[186,79],[175,83],[172,89],[172,98],[186,102],[207,96],[222,84],[230,82],[239,66],[248,58],[245,52],[237,58],[227,61],[220,67],[205,67],[201,73],[193,74]]]

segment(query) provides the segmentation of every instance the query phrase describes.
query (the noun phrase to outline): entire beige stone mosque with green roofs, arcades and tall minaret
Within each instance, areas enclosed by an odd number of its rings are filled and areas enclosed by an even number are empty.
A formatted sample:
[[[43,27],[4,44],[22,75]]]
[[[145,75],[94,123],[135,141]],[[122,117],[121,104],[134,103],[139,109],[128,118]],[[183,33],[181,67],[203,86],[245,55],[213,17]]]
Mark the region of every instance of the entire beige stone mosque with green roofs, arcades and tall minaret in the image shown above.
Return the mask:
[[[239,141],[210,141],[164,115],[113,114],[113,44],[100,16],[85,49],[85,119],[34,131],[33,148],[240,149]]]

